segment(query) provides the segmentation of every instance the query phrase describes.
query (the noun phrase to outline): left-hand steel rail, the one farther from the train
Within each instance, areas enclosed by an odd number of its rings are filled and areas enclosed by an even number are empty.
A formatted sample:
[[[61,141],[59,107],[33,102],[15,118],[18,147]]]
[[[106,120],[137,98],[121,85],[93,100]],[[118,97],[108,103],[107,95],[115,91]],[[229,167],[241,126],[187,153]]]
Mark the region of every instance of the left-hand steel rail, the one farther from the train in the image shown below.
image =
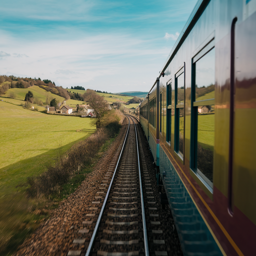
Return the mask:
[[[91,253],[92,246],[93,246],[93,243],[94,243],[94,240],[95,240],[95,238],[96,238],[96,234],[97,234],[97,231],[98,231],[98,228],[99,228],[99,223],[100,223],[100,220],[101,220],[103,211],[104,211],[105,206],[106,206],[106,201],[107,201],[107,199],[108,199],[108,195],[109,195],[109,192],[110,192],[110,188],[111,188],[111,185],[112,185],[113,180],[114,180],[114,175],[115,175],[115,172],[116,172],[116,169],[117,169],[117,166],[118,166],[118,163],[119,163],[119,160],[120,160],[120,158],[121,158],[122,151],[123,151],[123,148],[124,148],[124,145],[125,145],[125,142],[126,142],[127,134],[128,134],[128,131],[129,131],[129,126],[130,126],[130,120],[129,120],[129,118],[128,118],[128,128],[127,128],[127,131],[126,131],[126,135],[125,135],[125,138],[124,138],[124,142],[123,142],[123,145],[122,145],[122,149],[121,149],[121,152],[120,152],[118,161],[117,161],[117,163],[116,163],[116,166],[115,166],[115,169],[114,169],[114,173],[113,173],[112,179],[111,179],[110,184],[109,184],[109,187],[108,187],[108,189],[107,189],[107,192],[106,192],[106,196],[105,196],[103,205],[102,205],[101,210],[100,210],[100,212],[99,212],[96,225],[95,225],[95,227],[94,227],[92,236],[91,236],[91,238],[90,238],[90,242],[89,242],[89,245],[88,245],[88,247],[87,247],[85,256],[89,256],[90,253]]]

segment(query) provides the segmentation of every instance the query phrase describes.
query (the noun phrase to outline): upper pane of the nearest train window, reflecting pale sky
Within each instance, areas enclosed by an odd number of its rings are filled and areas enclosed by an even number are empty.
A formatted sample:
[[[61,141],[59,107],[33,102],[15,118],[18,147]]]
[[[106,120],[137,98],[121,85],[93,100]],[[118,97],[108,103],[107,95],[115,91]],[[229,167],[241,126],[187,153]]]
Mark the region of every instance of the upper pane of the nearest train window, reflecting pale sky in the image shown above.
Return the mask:
[[[215,93],[215,49],[195,63],[195,100],[214,98]]]

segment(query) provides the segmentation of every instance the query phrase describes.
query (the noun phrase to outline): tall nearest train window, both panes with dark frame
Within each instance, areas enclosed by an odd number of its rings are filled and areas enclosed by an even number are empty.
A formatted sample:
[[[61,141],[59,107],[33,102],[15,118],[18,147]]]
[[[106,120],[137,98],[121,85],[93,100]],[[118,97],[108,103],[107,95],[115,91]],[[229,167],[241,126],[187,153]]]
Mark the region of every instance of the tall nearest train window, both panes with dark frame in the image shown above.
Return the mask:
[[[212,192],[214,151],[215,49],[193,58],[191,169]],[[204,52],[205,52],[204,51]]]

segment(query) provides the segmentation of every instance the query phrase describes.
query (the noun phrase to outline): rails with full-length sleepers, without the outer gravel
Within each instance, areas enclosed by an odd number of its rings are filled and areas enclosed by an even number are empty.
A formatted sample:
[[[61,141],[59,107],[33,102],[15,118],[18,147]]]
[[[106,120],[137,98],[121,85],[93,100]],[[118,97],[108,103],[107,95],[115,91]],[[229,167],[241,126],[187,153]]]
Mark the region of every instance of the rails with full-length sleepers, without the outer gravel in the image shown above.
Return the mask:
[[[70,249],[67,256],[167,255],[162,246],[164,241],[156,238],[162,230],[159,230],[155,191],[151,187],[141,138],[136,134],[138,121],[133,116],[127,115],[127,118],[125,142],[119,146],[95,201],[91,202],[91,213],[86,213],[82,222],[85,228],[80,229],[77,239],[73,240],[73,248],[77,245],[79,249]]]

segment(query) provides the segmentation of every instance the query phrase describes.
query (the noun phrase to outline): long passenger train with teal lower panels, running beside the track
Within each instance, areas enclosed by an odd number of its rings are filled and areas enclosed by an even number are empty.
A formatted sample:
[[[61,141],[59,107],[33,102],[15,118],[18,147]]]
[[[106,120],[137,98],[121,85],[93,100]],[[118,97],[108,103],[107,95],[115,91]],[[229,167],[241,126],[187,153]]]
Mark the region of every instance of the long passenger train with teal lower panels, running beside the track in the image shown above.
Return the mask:
[[[184,255],[256,254],[255,45],[256,0],[198,0],[136,108]]]

